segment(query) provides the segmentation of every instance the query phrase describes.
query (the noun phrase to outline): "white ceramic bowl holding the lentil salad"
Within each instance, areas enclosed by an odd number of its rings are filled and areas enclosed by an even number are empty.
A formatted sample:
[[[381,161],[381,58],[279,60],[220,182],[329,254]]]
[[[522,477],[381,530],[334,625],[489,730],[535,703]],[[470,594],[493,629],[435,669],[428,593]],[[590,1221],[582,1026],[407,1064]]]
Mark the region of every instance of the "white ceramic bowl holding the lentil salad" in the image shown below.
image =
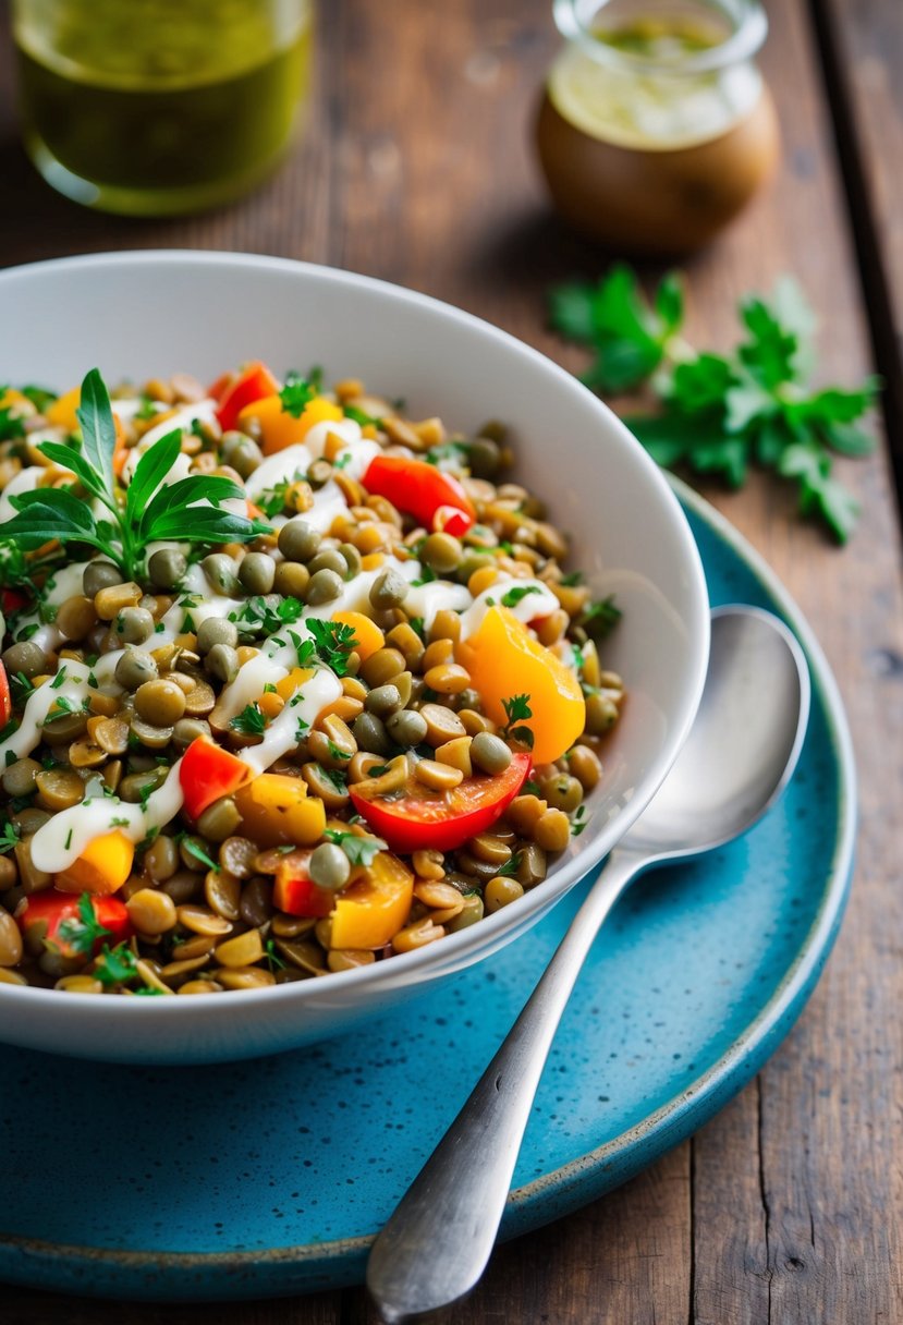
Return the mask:
[[[0,984],[0,1039],[132,1063],[253,1057],[338,1035],[522,935],[637,818],[692,721],[708,656],[699,555],[671,490],[626,428],[569,374],[457,309],[380,281],[237,253],[118,253],[0,273],[0,382],[212,379],[245,359],[323,364],[452,428],[503,419],[516,477],[573,538],[596,596],[624,617],[608,665],[629,700],[585,832],[520,901],[420,951],[242,994],[124,999]],[[539,973],[538,973],[539,974]],[[524,996],[527,991],[524,990]]]

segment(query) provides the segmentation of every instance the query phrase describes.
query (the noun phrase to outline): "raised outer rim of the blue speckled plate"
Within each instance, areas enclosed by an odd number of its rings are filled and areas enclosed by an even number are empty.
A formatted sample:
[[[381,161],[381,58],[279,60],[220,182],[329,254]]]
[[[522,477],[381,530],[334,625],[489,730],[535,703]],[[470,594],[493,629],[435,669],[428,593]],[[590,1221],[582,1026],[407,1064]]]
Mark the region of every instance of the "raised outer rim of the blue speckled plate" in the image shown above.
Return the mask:
[[[588,1204],[598,1195],[618,1186],[686,1140],[739,1093],[753,1072],[775,1052],[802,1011],[830,954],[850,892],[857,829],[857,772],[850,729],[830,664],[796,600],[764,556],[694,489],[674,476],[669,476],[669,482],[681,504],[707,525],[719,541],[727,543],[731,551],[744,562],[802,644],[810,668],[813,694],[820,696],[828,725],[828,737],[837,763],[838,831],[834,851],[818,910],[800,945],[796,959],[786,969],[768,1002],[737,1036],[732,1047],[706,1072],[694,1077],[679,1094],[647,1114],[641,1122],[583,1155],[514,1189],[508,1195],[500,1240],[519,1236],[563,1218],[572,1210]],[[593,1189],[593,1179],[600,1178],[601,1183]],[[169,1252],[97,1248],[5,1235],[0,1236],[0,1253],[5,1253],[11,1259],[25,1257],[32,1263],[32,1268],[36,1263],[42,1267],[54,1264],[58,1271],[69,1275],[66,1291],[85,1291],[90,1283],[91,1296],[128,1297],[130,1288],[119,1277],[115,1277],[110,1284],[83,1280],[82,1275],[86,1271],[110,1269],[114,1276],[130,1271],[151,1272],[156,1276],[160,1271],[166,1271],[168,1275],[175,1272],[177,1276],[176,1283],[171,1284],[173,1295],[179,1292],[184,1295],[192,1289],[193,1298],[213,1300],[217,1296],[213,1285],[207,1281],[189,1284],[185,1280],[192,1272],[214,1271],[224,1273],[226,1280],[232,1280],[224,1285],[229,1296],[262,1298],[279,1296],[285,1292],[338,1288],[343,1283],[355,1281],[355,1275],[360,1268],[361,1259],[372,1246],[373,1236],[361,1235],[320,1243],[287,1244],[262,1251]],[[273,1283],[267,1287],[252,1284],[249,1280],[248,1284],[253,1288],[252,1293],[244,1293],[241,1289],[245,1285],[237,1283],[234,1277],[236,1271],[242,1268],[263,1271],[279,1268],[285,1271],[291,1267],[306,1268],[309,1273],[314,1267],[318,1267],[320,1277],[316,1283],[305,1283],[301,1288],[297,1281]],[[4,1267],[4,1269],[7,1273],[9,1272],[9,1267]],[[23,1276],[15,1281],[36,1287],[34,1276]],[[135,1293],[135,1296],[138,1295]],[[167,1296],[166,1292],[154,1293],[156,1300],[166,1300]]]

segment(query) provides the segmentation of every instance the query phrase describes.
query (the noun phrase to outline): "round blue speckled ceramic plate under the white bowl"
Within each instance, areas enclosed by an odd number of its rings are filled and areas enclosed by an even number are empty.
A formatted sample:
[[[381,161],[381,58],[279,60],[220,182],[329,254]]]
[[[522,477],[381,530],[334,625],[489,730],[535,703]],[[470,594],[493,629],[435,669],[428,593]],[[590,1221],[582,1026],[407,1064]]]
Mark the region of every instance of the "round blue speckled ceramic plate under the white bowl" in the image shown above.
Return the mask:
[[[818,645],[752,550],[681,488],[711,600],[783,615],[813,672],[772,814],[646,876],[561,1023],[503,1236],[575,1210],[682,1141],[793,1024],[834,939],[855,791]],[[363,1277],[371,1238],[470,1092],[577,908],[360,1035],[256,1063],[143,1069],[0,1047],[0,1279],[73,1293],[258,1297]]]

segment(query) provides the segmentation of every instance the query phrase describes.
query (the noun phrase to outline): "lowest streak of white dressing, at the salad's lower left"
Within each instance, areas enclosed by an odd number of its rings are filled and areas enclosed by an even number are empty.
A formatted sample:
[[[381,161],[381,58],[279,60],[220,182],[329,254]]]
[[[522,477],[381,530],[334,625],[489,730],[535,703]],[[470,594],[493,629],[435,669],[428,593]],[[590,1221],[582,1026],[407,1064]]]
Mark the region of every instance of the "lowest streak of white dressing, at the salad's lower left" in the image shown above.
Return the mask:
[[[119,800],[118,796],[101,794],[53,815],[32,837],[34,867],[48,874],[57,874],[78,860],[89,843],[107,832],[118,829],[130,841],[139,843],[154,828],[163,828],[183,806],[180,765],[181,759],[176,759],[167,780],[151,792],[144,808]],[[99,790],[97,783],[94,786]]]

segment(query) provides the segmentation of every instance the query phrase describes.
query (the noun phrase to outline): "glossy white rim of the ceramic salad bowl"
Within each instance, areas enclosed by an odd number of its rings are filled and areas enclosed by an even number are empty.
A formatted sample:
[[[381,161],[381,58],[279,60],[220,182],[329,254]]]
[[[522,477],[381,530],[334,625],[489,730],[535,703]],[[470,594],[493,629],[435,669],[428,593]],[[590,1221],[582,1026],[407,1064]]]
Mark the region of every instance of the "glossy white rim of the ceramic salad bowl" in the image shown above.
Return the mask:
[[[154,268],[166,265],[183,268],[220,266],[224,270],[250,268],[277,273],[281,272],[294,280],[309,278],[314,281],[330,282],[335,286],[343,286],[346,289],[363,288],[376,295],[395,301],[397,305],[405,305],[412,310],[421,310],[432,313],[433,315],[440,315],[446,321],[457,323],[462,330],[469,331],[473,335],[481,335],[487,341],[499,344],[508,352],[514,351],[518,355],[532,360],[539,372],[549,375],[565,390],[579,394],[584,399],[584,403],[591,404],[604,427],[613,433],[620,445],[632,453],[634,462],[643,469],[646,481],[650,484],[662,507],[671,517],[673,527],[679,535],[679,542],[683,547],[686,559],[686,592],[687,598],[691,600],[692,611],[696,617],[694,621],[689,621],[690,629],[687,631],[687,636],[689,639],[695,640],[696,651],[690,669],[687,690],[683,697],[683,712],[679,714],[679,719],[670,725],[669,733],[663,741],[666,755],[662,757],[659,751],[654,766],[647,771],[646,776],[640,783],[642,794],[638,795],[634,792],[630,802],[621,806],[616,819],[613,820],[616,831],[610,833],[602,832],[600,837],[596,839],[593,851],[577,851],[569,860],[563,860],[557,865],[553,865],[549,876],[543,880],[538,888],[526,893],[524,897],[518,898],[515,904],[516,916],[512,917],[511,908],[506,906],[499,912],[495,912],[493,916],[485,916],[474,926],[469,926],[467,929],[459,930],[454,934],[446,934],[441,943],[429,943],[425,947],[416,949],[410,953],[396,954],[385,962],[376,962],[371,966],[356,967],[348,971],[330,973],[328,987],[335,990],[336,995],[339,995],[343,991],[352,991],[357,986],[363,986],[364,988],[368,986],[379,988],[381,984],[385,984],[387,987],[414,986],[421,983],[418,975],[424,967],[429,970],[429,967],[436,966],[436,977],[438,978],[446,973],[461,970],[463,966],[483,961],[487,957],[491,957],[493,953],[500,946],[522,937],[549,906],[555,905],[567,892],[571,890],[571,888],[573,888],[575,884],[580,881],[580,878],[585,877],[585,874],[604,859],[604,856],[616,845],[624,833],[626,833],[633,822],[647,806],[649,800],[655,794],[669,768],[674,763],[674,759],[677,758],[690,731],[699,706],[699,700],[702,697],[702,689],[708,665],[710,608],[702,556],[690,530],[687,518],[681,509],[681,504],[663,472],[643,450],[629,428],[621,421],[621,419],[618,419],[609,405],[589,391],[589,388],[575,378],[573,374],[568,372],[548,355],[534,348],[531,344],[527,344],[524,341],[520,341],[510,331],[504,331],[502,327],[495,326],[477,314],[467,313],[466,310],[448,303],[444,299],[422,294],[418,290],[412,290],[406,286],[396,285],[379,277],[367,276],[344,268],[332,268],[324,264],[307,262],[295,258],[274,257],[265,253],[180,248],[123,249],[117,252],[79,253],[70,257],[46,258],[38,262],[26,262],[5,268],[4,270],[0,270],[0,295],[8,293],[11,289],[15,289],[16,285],[26,286],[28,281],[36,276],[53,276],[56,272],[97,269],[99,272],[110,272],[115,274],[118,269],[134,269],[135,266]],[[589,843],[587,845],[589,845]],[[506,931],[508,929],[514,930],[514,933],[506,937]],[[477,951],[474,951],[470,959],[467,959],[469,949],[474,947]],[[437,958],[441,959],[437,961]],[[294,980],[285,984],[242,990],[240,1000],[241,1008],[250,1012],[254,1007],[260,1007],[261,1000],[263,1000],[265,1007],[274,1007],[279,1000],[287,1003],[298,1002],[298,1006],[301,1007],[303,1003],[314,1000],[314,990],[320,991],[322,988],[322,980]],[[101,1024],[101,1019],[109,1024],[110,1016],[135,1018],[136,1015],[132,1006],[134,999],[128,998],[111,998],[101,1000],[93,994],[70,992],[65,999],[60,999],[58,991],[53,988],[0,983],[0,1007],[3,1007],[4,1003],[16,1003],[20,1007],[32,1006],[36,1010],[40,1008],[42,1011],[46,1011],[49,1007],[56,1007],[58,1008],[61,1022],[62,1018],[66,1018],[66,1020],[71,1018],[79,1020],[83,1014],[89,1014],[89,1019],[91,1015],[98,1018],[98,1024]],[[142,1011],[138,1012],[138,1016],[143,1018],[143,1022],[134,1024],[139,1024],[144,1030],[150,1028],[148,1023],[158,1024],[158,1022],[163,1022],[168,1024],[169,1019],[173,1016],[185,1018],[188,1015],[187,1012],[175,1011],[179,1007],[184,1008],[188,1006],[192,1008],[193,1011],[191,1015],[199,1023],[207,1022],[211,1018],[213,1020],[220,1019],[224,1014],[216,1012],[217,1007],[225,1006],[226,1008],[233,1008],[234,1011],[233,1000],[222,1000],[204,995],[196,995],[184,1000],[177,998],[139,999],[139,1003],[142,1004]],[[127,1011],[127,1007],[131,1010]],[[69,1012],[66,1012],[66,1010],[69,1010]]]

